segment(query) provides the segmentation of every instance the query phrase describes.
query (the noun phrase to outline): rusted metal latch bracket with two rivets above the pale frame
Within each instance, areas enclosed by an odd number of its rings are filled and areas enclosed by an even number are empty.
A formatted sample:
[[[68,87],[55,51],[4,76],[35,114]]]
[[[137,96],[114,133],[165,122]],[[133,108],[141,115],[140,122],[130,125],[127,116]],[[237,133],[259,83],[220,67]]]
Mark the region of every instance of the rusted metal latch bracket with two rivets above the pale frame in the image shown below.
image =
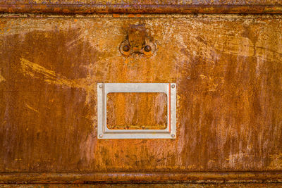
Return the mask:
[[[128,36],[120,45],[121,54],[130,56],[131,54],[144,54],[152,56],[156,50],[152,38],[147,35],[145,25],[130,25]]]

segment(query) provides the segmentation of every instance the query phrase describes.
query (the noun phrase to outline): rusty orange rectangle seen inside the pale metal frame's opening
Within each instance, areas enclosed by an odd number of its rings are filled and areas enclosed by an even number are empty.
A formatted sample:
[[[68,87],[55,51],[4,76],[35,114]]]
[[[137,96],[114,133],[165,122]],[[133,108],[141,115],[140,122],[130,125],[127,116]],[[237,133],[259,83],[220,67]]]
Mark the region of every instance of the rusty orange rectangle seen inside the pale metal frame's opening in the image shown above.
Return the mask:
[[[167,127],[165,93],[109,93],[106,122],[111,130],[164,130]]]

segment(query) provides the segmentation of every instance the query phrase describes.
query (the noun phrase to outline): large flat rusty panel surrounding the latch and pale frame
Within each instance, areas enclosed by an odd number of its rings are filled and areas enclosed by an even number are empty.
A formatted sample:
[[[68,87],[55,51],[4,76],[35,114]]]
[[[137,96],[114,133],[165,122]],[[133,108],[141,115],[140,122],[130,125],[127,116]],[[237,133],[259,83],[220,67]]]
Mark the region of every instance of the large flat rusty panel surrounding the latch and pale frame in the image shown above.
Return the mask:
[[[11,173],[1,181],[193,171],[281,180],[281,16],[37,16],[0,19],[0,171]],[[132,24],[154,37],[153,56],[120,53]],[[98,140],[97,82],[176,82],[177,139]]]

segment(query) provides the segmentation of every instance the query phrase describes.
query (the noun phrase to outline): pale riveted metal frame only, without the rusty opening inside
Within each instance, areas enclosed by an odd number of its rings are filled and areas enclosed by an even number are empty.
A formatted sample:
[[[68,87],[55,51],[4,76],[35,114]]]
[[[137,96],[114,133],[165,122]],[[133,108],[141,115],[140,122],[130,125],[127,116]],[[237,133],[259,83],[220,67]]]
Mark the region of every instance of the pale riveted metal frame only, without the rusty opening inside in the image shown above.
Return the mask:
[[[165,93],[167,126],[165,130],[109,130],[106,124],[106,96],[109,93]],[[176,139],[175,83],[98,83],[97,112],[99,139]]]

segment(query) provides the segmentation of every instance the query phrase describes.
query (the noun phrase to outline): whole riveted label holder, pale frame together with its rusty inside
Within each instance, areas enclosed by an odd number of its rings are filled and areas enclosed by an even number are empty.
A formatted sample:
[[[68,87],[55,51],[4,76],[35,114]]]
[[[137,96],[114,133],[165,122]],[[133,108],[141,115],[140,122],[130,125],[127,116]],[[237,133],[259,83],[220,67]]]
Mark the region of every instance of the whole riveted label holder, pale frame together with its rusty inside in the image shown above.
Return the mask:
[[[98,83],[99,139],[175,139],[176,84]]]

